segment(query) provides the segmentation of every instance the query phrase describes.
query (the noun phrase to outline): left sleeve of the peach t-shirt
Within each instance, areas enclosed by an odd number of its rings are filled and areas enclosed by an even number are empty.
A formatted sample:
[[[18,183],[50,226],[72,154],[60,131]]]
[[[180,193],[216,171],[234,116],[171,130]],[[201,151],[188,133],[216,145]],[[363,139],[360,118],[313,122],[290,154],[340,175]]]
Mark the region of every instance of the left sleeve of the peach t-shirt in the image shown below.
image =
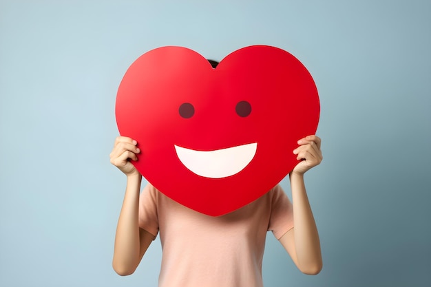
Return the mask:
[[[151,184],[147,184],[139,195],[139,227],[154,237],[158,233],[157,198],[158,191]]]

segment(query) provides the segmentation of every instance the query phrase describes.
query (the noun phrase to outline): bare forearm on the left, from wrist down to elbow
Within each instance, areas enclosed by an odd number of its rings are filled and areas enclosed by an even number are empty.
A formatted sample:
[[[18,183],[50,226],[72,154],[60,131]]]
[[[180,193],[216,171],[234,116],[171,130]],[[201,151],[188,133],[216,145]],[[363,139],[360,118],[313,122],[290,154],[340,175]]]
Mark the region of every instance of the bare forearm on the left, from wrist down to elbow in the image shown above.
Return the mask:
[[[128,176],[123,206],[115,235],[112,266],[120,275],[134,272],[140,261],[138,226],[139,191],[142,177]]]

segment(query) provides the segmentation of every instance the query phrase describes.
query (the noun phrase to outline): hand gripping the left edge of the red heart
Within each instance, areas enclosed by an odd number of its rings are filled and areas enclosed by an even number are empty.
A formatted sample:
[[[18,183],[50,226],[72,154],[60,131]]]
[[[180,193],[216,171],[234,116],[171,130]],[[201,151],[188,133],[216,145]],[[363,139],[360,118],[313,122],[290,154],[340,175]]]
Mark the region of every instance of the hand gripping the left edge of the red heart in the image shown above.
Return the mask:
[[[140,149],[136,147],[138,143],[132,138],[118,136],[115,139],[114,149],[109,154],[112,164],[120,171],[123,171],[126,176],[140,175],[139,171],[134,167],[130,160],[138,160],[136,153],[140,153]]]

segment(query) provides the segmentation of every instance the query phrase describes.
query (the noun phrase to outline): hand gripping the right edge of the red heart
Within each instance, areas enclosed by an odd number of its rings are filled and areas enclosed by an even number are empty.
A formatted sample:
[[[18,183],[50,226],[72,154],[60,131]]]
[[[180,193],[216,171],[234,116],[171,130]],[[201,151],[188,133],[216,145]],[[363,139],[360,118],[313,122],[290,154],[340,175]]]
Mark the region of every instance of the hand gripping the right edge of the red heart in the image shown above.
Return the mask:
[[[297,155],[297,160],[301,160],[296,167],[291,171],[292,173],[303,175],[308,169],[315,167],[322,162],[322,151],[320,150],[320,143],[322,140],[318,136],[306,136],[298,140],[298,145],[293,153]]]

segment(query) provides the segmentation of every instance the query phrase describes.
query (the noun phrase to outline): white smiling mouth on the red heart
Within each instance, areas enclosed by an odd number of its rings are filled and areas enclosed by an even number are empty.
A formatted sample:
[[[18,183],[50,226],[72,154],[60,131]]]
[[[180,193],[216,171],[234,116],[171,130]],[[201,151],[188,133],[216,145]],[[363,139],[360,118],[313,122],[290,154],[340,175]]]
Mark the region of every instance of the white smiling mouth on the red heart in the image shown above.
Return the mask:
[[[191,172],[204,178],[226,178],[239,173],[253,160],[257,142],[215,151],[174,147],[180,162]]]

